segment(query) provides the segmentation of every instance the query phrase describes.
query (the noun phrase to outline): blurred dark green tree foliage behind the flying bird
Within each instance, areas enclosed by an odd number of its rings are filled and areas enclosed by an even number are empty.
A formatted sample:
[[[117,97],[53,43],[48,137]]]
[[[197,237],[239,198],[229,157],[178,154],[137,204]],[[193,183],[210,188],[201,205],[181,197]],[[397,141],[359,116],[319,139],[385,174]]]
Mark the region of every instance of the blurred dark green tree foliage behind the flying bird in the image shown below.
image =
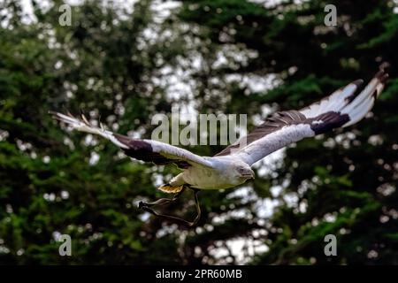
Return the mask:
[[[396,1],[254,2],[85,1],[70,27],[61,1],[0,2],[1,264],[398,264]],[[252,128],[382,61],[390,80],[367,119],[279,151],[241,188],[201,192],[195,229],[136,208],[178,169],[131,162],[47,114],[82,108],[150,138],[154,114],[194,105],[247,113]],[[191,197],[164,212],[192,218]],[[73,256],[58,255],[62,233]],[[330,233],[337,256],[324,254]]]

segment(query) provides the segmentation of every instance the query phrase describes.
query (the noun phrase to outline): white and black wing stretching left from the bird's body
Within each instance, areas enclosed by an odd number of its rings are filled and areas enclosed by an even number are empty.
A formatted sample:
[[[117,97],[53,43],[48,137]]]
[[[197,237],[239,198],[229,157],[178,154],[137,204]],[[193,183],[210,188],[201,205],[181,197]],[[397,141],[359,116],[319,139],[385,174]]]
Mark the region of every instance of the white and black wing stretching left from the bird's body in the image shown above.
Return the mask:
[[[65,115],[50,111],[50,114],[55,119],[65,122],[80,132],[101,135],[103,138],[119,146],[120,149],[123,149],[128,157],[153,162],[154,164],[177,164],[183,169],[191,165],[213,167],[206,157],[197,156],[186,149],[180,149],[164,142],[132,139],[126,135],[107,131],[103,126],[93,126],[84,115],[81,115],[81,119],[76,119],[70,113]]]

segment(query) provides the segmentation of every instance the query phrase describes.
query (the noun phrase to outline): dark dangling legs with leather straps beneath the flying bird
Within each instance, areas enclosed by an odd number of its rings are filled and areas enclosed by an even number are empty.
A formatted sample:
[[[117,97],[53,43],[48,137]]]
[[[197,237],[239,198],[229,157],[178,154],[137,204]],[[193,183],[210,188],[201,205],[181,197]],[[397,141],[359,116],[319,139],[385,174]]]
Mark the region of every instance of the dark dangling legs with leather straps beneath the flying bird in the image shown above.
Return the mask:
[[[175,202],[175,201],[179,198],[179,196],[182,194],[182,192],[183,192],[184,189],[182,189],[178,194],[174,195],[174,196],[172,197],[172,199],[165,199],[165,198],[163,198],[163,199],[159,199],[159,200],[157,200],[156,202],[153,202],[153,203],[143,203],[143,202],[140,202],[140,203],[138,204],[138,207],[141,208],[142,210],[148,211],[149,213],[151,213],[151,214],[153,214],[153,215],[155,215],[155,216],[157,216],[157,217],[159,217],[159,218],[165,218],[165,219],[177,221],[177,222],[180,222],[181,224],[183,224],[183,225],[185,225],[185,226],[194,227],[194,226],[197,225],[197,222],[198,222],[199,219],[201,218],[201,207],[199,206],[199,200],[198,200],[198,197],[197,197],[197,194],[199,193],[199,190],[196,189],[196,188],[193,188],[193,187],[189,187],[189,188],[191,188],[191,189],[194,191],[194,195],[195,195],[195,207],[196,207],[196,213],[197,213],[197,214],[196,214],[196,217],[195,217],[195,219],[194,219],[194,221],[192,221],[192,222],[187,221],[187,220],[185,220],[185,219],[183,219],[183,218],[177,218],[177,217],[172,216],[172,215],[160,214],[160,213],[157,213],[157,211],[152,210],[152,209],[150,208],[150,206],[153,206],[153,205],[164,205],[164,204],[166,204],[166,203]]]

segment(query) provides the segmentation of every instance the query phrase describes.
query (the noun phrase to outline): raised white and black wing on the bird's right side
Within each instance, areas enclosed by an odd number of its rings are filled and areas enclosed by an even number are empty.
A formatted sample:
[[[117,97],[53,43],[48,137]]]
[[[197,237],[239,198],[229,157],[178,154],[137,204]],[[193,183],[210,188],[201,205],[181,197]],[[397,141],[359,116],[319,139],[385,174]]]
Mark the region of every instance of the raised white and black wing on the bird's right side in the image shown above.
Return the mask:
[[[386,65],[380,66],[379,73],[359,94],[356,90],[363,80],[356,80],[300,111],[277,112],[248,136],[219,152],[216,157],[233,155],[251,165],[292,142],[323,134],[336,127],[355,124],[371,110],[383,90],[388,77],[385,67]]]

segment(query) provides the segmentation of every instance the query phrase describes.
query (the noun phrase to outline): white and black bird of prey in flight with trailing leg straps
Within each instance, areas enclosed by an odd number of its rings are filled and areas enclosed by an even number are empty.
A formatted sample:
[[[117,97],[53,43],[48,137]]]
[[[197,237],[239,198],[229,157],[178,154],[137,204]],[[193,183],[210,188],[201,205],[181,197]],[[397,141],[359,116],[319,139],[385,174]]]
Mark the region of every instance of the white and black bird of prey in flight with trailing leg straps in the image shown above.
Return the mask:
[[[363,119],[371,110],[375,100],[385,87],[388,74],[387,64],[380,65],[379,72],[362,88],[364,80],[356,80],[340,88],[317,103],[301,110],[279,111],[265,119],[246,137],[226,147],[214,157],[201,157],[164,142],[133,139],[126,135],[112,133],[102,124],[93,126],[81,114],[80,119],[70,113],[50,111],[55,119],[69,124],[80,132],[97,134],[113,142],[126,156],[157,165],[176,164],[182,172],[165,185],[158,187],[165,193],[173,193],[172,198],[161,198],[152,203],[140,202],[139,207],[150,213],[177,220],[188,226],[195,226],[201,216],[197,193],[202,189],[225,189],[236,187],[255,178],[252,164],[275,150],[298,142],[303,138],[324,134],[338,127],[351,126]],[[182,218],[159,214],[153,206],[176,201],[188,187],[195,192],[197,215],[189,222]]]

